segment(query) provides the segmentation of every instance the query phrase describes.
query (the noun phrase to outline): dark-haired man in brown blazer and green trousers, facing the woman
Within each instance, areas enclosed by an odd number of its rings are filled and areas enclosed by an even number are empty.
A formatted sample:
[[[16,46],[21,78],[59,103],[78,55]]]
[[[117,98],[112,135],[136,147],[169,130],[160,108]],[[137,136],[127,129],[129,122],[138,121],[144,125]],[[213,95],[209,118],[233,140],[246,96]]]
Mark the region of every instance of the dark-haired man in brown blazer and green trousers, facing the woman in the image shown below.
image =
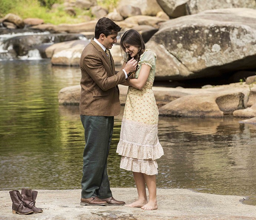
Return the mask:
[[[118,84],[137,66],[134,59],[115,72],[109,53],[121,30],[109,18],[101,18],[95,26],[95,38],[86,45],[80,58],[80,116],[85,129],[81,205],[124,205],[115,200],[106,171],[113,133],[114,116],[120,112]]]

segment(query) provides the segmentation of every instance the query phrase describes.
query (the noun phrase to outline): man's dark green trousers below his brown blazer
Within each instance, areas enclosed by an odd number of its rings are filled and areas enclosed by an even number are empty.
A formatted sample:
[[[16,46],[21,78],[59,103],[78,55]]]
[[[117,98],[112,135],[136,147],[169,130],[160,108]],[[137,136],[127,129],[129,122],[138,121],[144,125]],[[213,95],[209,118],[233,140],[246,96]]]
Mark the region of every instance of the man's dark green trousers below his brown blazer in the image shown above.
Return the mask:
[[[85,129],[82,198],[112,196],[107,174],[107,159],[114,127],[114,116],[81,115]]]

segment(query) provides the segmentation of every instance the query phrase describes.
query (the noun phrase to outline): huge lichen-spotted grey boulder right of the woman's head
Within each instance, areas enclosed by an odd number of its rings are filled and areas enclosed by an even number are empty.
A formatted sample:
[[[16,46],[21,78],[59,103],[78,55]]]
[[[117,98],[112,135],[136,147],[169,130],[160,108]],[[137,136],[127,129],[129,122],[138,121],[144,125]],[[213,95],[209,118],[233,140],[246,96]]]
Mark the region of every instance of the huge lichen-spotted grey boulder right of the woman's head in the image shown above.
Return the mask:
[[[165,80],[256,69],[256,10],[209,10],[168,20],[146,47],[158,55],[156,77]]]

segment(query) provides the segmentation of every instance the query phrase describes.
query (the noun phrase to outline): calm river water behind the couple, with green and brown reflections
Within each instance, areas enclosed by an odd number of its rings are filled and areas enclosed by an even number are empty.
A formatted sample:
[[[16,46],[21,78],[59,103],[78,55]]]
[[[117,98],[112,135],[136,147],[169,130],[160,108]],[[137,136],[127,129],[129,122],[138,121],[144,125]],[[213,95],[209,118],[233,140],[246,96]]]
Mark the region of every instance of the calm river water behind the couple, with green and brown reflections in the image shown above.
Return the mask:
[[[80,189],[79,109],[58,104],[61,88],[79,84],[79,68],[49,60],[0,64],[0,190]],[[134,187],[115,153],[121,120],[122,112],[115,117],[108,174],[112,187]],[[256,205],[256,126],[233,117],[160,117],[158,130],[165,155],[158,159],[157,187],[247,196],[244,203]]]

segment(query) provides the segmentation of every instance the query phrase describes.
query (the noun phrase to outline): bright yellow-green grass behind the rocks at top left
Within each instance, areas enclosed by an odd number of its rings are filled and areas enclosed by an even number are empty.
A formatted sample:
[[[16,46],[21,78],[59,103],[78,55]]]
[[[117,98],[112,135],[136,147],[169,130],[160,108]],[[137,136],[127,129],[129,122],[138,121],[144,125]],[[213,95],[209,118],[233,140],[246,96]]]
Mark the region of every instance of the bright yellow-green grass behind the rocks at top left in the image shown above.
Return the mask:
[[[42,1],[42,0],[40,0]],[[81,10],[75,8],[76,16],[70,16],[65,12],[63,0],[52,0],[51,3],[60,3],[57,9],[49,9],[47,6],[42,6],[39,0],[0,0],[0,17],[4,17],[8,13],[17,14],[21,18],[41,18],[45,23],[51,24],[74,24],[85,22],[83,16],[93,18],[91,10]],[[112,11],[118,4],[119,0],[98,0],[99,6],[102,6],[109,11]],[[48,0],[49,2],[49,0]]]

